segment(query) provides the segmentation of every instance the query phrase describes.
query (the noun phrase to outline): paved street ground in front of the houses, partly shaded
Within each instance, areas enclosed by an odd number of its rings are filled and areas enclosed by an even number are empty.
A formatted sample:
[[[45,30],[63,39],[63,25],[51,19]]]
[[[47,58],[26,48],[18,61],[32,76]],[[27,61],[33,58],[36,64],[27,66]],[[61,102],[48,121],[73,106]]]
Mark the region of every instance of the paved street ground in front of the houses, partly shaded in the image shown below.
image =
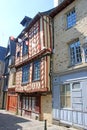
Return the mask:
[[[45,130],[44,122],[14,115],[0,110],[0,130]],[[47,124],[47,130],[76,130],[53,124]]]

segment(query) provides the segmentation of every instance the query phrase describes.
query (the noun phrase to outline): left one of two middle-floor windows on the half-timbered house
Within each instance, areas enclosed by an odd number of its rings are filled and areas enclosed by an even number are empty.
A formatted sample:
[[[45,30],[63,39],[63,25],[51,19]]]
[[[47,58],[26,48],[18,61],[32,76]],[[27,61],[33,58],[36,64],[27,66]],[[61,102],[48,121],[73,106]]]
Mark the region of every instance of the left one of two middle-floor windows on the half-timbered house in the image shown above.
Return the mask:
[[[22,67],[22,82],[26,83],[29,81],[29,68],[30,65],[25,65]]]

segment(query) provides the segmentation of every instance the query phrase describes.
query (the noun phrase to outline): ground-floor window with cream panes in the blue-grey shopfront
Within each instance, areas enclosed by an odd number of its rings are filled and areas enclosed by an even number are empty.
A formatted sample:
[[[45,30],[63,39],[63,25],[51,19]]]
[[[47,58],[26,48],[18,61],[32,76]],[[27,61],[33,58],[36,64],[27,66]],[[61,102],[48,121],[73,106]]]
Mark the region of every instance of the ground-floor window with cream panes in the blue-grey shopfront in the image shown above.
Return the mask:
[[[60,88],[60,104],[61,108],[71,107],[70,84],[62,85]]]

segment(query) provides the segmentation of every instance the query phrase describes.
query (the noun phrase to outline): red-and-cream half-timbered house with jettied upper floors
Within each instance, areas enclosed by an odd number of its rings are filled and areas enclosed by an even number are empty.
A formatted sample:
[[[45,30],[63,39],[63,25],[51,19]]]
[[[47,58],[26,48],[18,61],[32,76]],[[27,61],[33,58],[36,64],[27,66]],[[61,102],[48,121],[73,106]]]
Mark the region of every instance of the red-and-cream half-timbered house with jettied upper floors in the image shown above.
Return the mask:
[[[34,119],[52,120],[50,59],[52,25],[50,11],[21,22],[24,30],[16,39],[16,88],[18,113]]]

